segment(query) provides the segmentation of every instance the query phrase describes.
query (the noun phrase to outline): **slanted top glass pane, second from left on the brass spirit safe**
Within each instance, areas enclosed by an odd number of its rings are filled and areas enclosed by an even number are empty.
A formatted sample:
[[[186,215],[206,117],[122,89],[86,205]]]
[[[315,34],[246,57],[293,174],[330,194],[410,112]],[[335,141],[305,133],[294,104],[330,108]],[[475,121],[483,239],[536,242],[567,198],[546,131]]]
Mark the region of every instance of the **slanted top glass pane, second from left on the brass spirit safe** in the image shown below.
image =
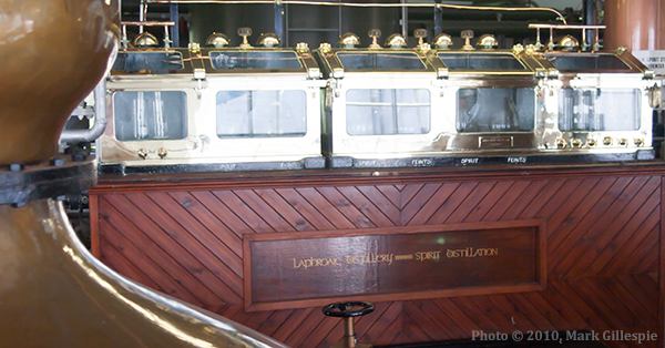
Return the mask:
[[[300,69],[296,52],[291,51],[213,51],[209,53],[214,69]]]

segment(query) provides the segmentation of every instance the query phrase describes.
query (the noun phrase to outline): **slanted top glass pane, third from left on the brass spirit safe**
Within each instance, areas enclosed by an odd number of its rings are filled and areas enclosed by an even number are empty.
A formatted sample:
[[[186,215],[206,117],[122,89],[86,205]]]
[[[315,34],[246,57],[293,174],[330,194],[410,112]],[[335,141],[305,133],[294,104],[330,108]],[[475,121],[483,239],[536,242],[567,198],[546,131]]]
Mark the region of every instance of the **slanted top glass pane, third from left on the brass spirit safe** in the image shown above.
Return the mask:
[[[337,58],[347,70],[426,70],[413,52],[337,52]]]

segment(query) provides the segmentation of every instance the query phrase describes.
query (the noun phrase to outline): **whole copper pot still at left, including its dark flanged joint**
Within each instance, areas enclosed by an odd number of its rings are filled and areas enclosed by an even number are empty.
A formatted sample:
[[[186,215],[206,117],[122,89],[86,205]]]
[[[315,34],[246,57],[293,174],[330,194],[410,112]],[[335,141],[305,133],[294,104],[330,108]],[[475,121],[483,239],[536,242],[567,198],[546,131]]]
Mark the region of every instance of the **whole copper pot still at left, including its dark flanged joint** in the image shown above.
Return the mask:
[[[0,0],[0,346],[286,348],[119,276],[53,199],[96,178],[90,161],[45,160],[117,29],[115,0]]]

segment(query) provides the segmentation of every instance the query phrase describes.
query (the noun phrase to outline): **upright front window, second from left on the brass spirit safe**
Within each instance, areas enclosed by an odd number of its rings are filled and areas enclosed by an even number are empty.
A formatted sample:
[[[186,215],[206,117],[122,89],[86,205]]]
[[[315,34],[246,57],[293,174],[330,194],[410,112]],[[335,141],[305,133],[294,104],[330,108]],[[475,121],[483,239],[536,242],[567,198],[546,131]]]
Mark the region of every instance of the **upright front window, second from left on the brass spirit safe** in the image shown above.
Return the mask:
[[[217,136],[304,136],[307,132],[305,91],[221,91],[217,93]]]

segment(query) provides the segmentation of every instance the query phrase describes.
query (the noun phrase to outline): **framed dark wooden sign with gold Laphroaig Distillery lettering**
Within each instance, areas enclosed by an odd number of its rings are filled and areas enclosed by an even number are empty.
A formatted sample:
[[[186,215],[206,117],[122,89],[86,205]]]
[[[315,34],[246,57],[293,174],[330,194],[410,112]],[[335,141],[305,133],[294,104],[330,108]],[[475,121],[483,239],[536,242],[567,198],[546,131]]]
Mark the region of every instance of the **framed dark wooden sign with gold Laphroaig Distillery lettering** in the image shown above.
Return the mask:
[[[245,309],[540,290],[543,236],[541,221],[249,234]]]

